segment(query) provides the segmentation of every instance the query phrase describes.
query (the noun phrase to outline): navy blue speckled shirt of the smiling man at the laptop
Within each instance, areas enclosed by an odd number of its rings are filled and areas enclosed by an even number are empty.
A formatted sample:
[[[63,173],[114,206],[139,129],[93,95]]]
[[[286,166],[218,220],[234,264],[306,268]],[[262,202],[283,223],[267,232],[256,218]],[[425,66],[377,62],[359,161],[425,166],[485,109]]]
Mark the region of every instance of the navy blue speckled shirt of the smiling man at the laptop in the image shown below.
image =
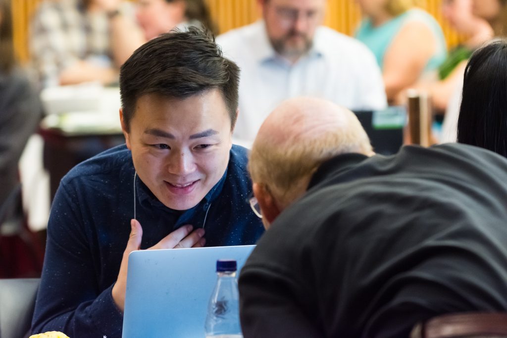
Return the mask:
[[[251,193],[246,164],[246,149],[234,145],[222,179],[184,213],[164,206],[137,177],[141,249],[184,224],[203,227],[204,219],[206,246],[255,244],[264,228],[246,202]],[[134,173],[131,153],[121,145],[81,163],[62,179],[48,223],[32,332],[121,337],[123,315],[111,290],[134,217]]]

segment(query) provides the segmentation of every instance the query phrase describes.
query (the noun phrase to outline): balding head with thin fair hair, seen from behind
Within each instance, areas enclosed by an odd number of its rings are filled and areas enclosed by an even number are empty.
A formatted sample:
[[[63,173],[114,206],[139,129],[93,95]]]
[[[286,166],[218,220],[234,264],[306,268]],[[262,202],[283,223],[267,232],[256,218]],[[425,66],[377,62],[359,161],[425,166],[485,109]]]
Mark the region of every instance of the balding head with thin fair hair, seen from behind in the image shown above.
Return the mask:
[[[345,153],[373,154],[356,116],[330,101],[299,97],[264,121],[248,166],[254,186],[267,190],[281,211],[306,191],[321,163]]]

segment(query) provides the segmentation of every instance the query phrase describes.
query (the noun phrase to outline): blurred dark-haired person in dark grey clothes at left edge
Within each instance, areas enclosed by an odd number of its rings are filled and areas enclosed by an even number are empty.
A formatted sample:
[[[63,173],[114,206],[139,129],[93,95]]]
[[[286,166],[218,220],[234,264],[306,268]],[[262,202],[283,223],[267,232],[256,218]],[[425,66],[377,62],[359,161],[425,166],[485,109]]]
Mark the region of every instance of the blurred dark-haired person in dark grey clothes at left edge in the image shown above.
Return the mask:
[[[26,142],[42,117],[39,95],[16,64],[12,34],[11,2],[0,0],[0,223],[14,207],[5,203],[19,182]]]

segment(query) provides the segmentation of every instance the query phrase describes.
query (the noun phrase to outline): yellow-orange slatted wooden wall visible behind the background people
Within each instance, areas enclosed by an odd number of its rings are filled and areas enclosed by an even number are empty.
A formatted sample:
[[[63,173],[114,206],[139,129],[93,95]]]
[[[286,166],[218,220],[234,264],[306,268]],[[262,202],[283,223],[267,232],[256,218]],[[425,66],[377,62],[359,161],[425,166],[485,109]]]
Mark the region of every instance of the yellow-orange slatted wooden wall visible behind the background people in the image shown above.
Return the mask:
[[[41,0],[11,0],[14,20],[14,43],[22,61],[28,59],[27,33],[31,14]],[[257,0],[206,0],[211,15],[221,32],[256,21],[260,17]],[[449,46],[455,46],[461,37],[442,19],[442,0],[422,0],[421,7],[441,23]],[[328,0],[324,23],[340,32],[352,34],[361,14],[354,0]]]

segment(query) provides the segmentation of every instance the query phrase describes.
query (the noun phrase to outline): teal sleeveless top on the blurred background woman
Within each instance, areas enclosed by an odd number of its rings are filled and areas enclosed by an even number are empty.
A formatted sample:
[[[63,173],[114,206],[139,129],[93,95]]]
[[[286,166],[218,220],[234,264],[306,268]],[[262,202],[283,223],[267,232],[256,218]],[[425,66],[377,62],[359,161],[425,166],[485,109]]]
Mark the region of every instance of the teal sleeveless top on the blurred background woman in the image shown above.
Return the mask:
[[[384,24],[374,27],[370,19],[361,21],[355,33],[356,39],[363,42],[371,49],[380,68],[383,69],[384,55],[391,44],[394,36],[402,29],[403,25],[411,21],[421,21],[428,25],[437,41],[437,49],[426,64],[424,72],[437,69],[444,62],[447,54],[447,45],[444,33],[437,20],[430,14],[420,9],[411,9],[399,16],[392,18]]]

